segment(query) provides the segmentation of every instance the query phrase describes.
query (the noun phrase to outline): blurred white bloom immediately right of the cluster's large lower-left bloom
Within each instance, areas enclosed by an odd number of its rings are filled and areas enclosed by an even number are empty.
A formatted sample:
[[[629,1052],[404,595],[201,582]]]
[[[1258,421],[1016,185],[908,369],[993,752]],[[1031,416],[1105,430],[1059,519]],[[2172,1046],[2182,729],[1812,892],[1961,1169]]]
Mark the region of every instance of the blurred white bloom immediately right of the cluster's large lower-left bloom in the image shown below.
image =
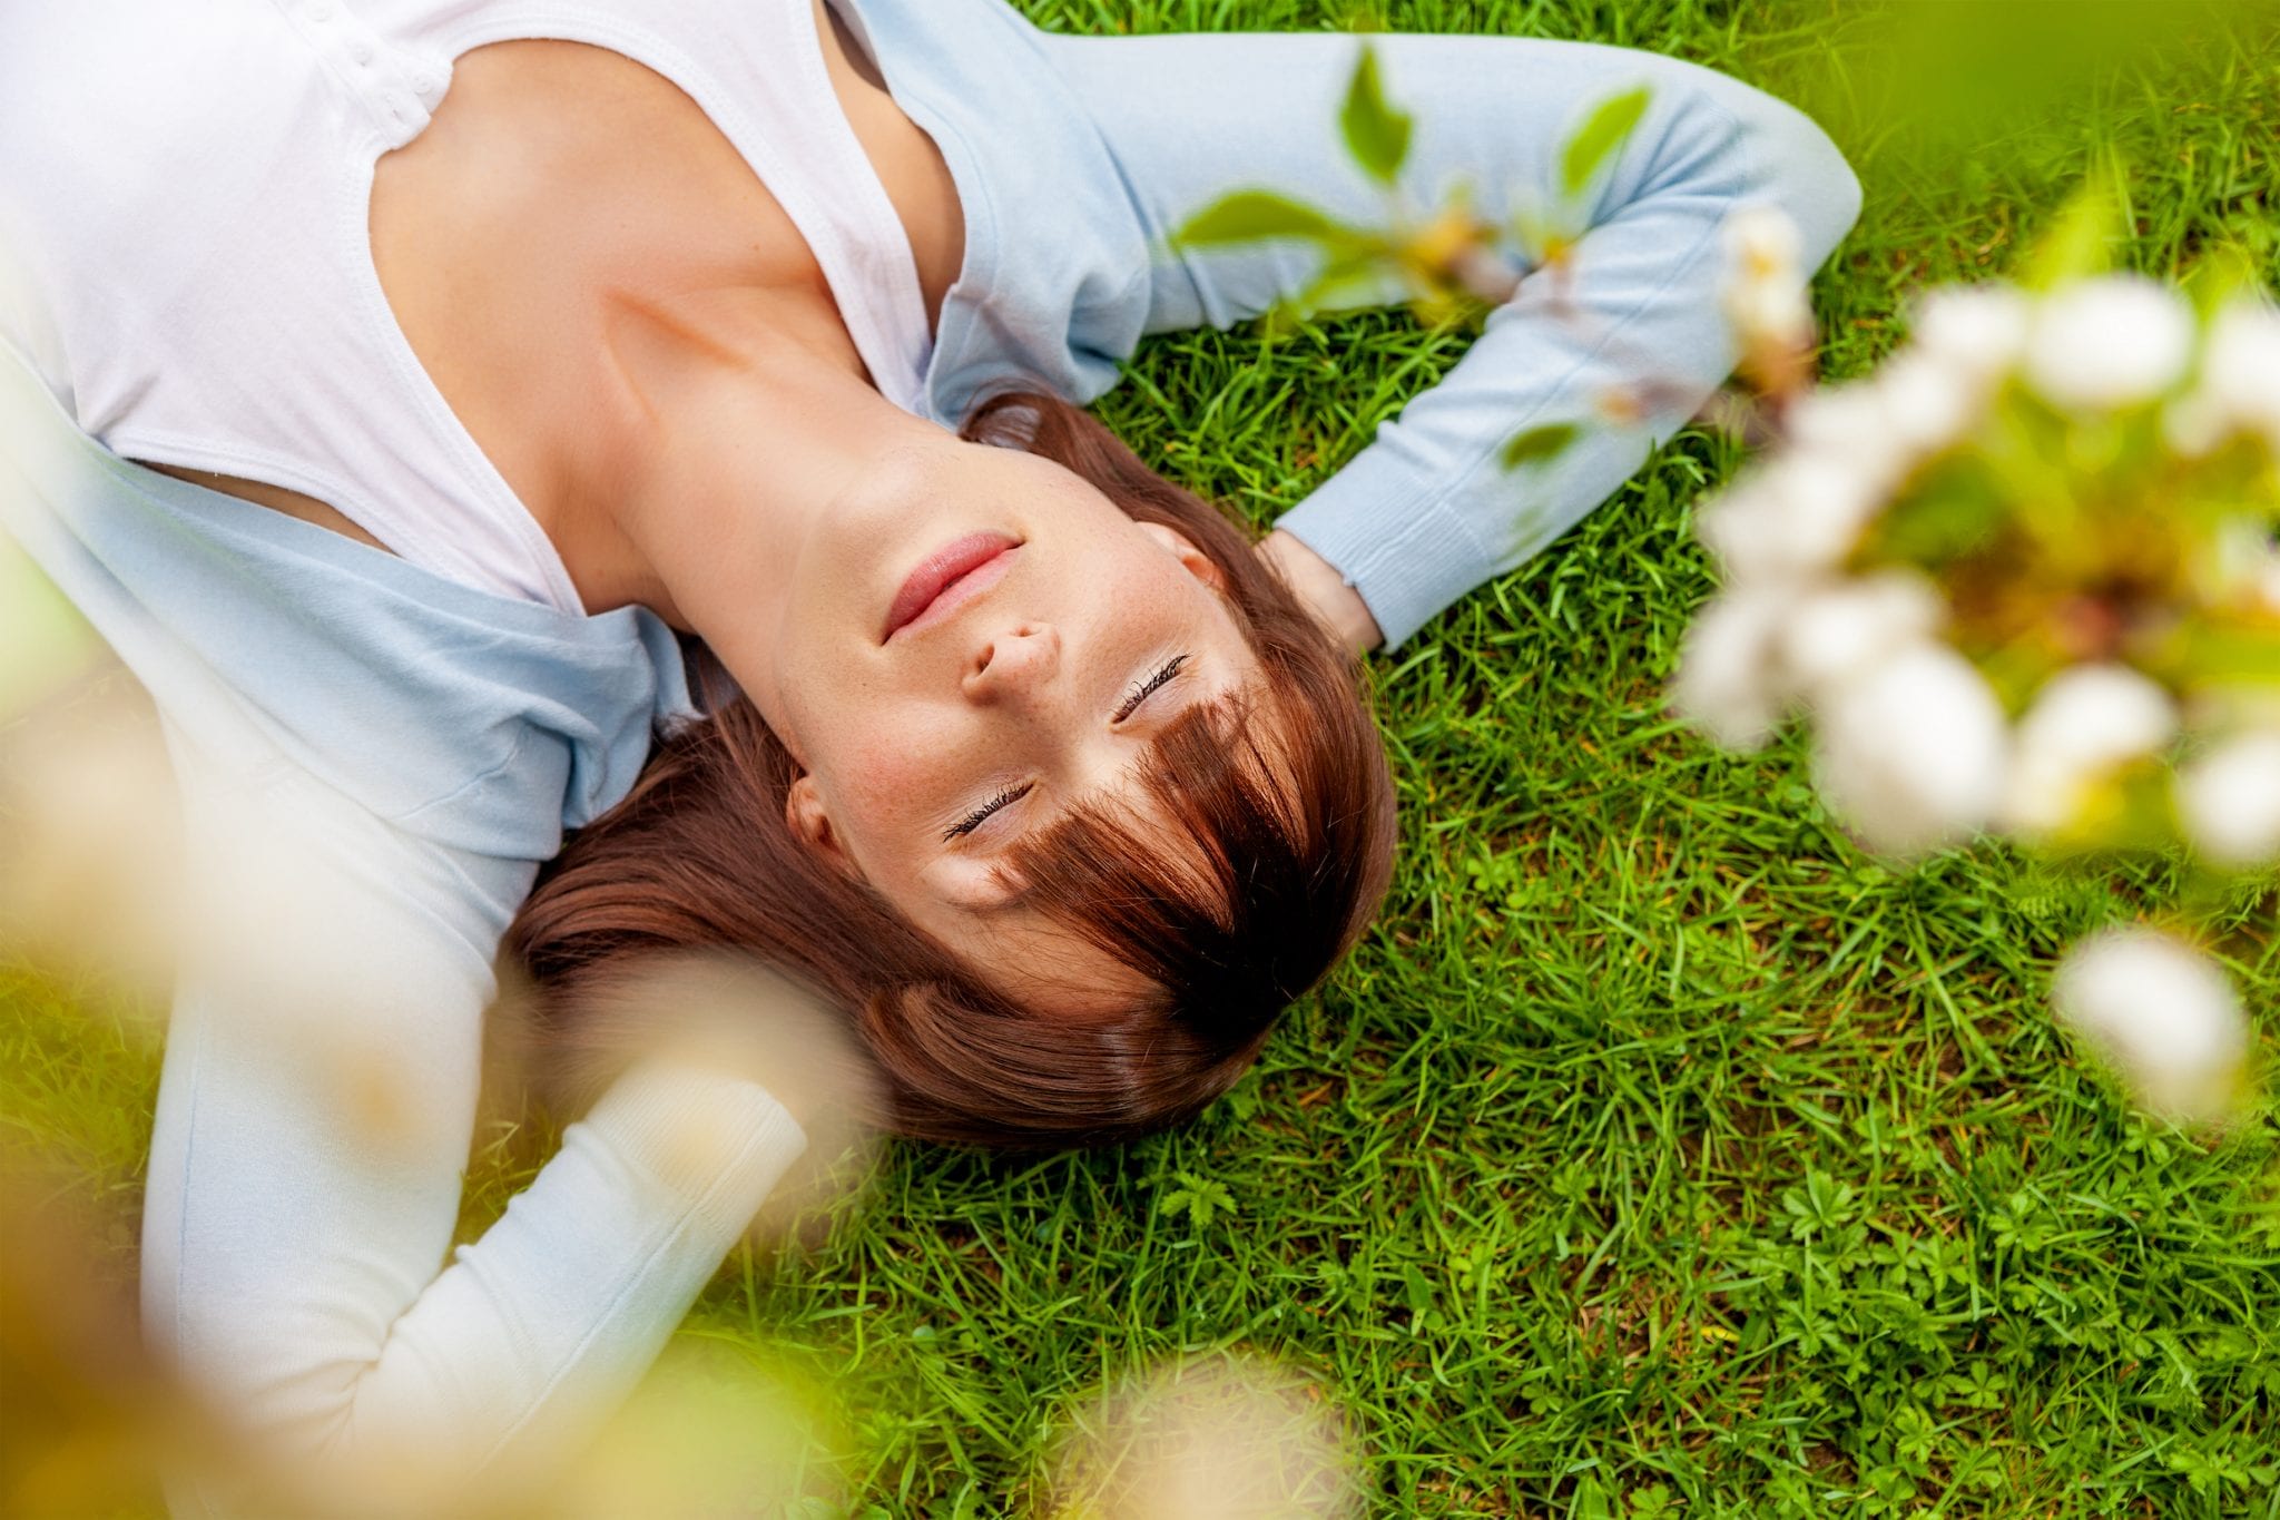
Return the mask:
[[[2063,832],[2107,775],[2175,736],[2177,704],[2136,670],[2061,670],[2018,725],[2004,823],[2029,836]]]

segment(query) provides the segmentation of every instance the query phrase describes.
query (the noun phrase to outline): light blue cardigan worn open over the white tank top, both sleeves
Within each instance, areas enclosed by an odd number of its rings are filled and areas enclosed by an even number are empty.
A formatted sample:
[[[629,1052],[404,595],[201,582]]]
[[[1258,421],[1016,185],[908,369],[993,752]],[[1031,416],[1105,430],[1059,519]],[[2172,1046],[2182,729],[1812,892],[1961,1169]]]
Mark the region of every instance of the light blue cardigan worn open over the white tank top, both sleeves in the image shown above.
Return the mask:
[[[1332,125],[1350,36],[1076,39],[1001,0],[855,5],[964,205],[926,392],[937,422],[1008,381],[1088,401],[1145,333],[1233,324],[1300,287],[1313,260],[1297,246],[1165,248],[1167,228],[1229,189],[1382,212]],[[1523,283],[1450,376],[1284,517],[1400,643],[1605,499],[1726,374],[1717,228],[1733,207],[1778,205],[1819,262],[1858,189],[1797,112],[1671,59],[1477,36],[1377,46],[1418,114],[1404,191],[1434,203],[1464,175],[1489,216],[1553,185],[1591,103],[1637,80],[1655,91],[1580,207],[1591,232],[1571,310]],[[1644,369],[1671,397],[1651,428],[1594,431],[1525,481],[1496,465],[1514,428],[1587,419]],[[645,611],[502,599],[121,463],[21,362],[0,362],[0,515],[157,700],[194,861],[214,880],[274,877],[244,841],[292,820],[303,843],[285,896],[326,905],[315,971],[287,962],[255,984],[185,966],[144,1212],[150,1335],[230,1408],[328,1461],[401,1472],[424,1454],[442,1479],[547,1461],[641,1374],[803,1144],[752,1082],[636,1073],[438,1276],[490,957],[563,830],[622,798],[652,729],[689,713],[675,638]],[[312,1028],[415,1062],[388,1164],[358,1155],[280,1055],[278,1025],[253,1016],[294,996],[319,1003]],[[698,1114],[718,1151],[691,1178],[675,1135]],[[173,1495],[185,1511],[210,1497]]]

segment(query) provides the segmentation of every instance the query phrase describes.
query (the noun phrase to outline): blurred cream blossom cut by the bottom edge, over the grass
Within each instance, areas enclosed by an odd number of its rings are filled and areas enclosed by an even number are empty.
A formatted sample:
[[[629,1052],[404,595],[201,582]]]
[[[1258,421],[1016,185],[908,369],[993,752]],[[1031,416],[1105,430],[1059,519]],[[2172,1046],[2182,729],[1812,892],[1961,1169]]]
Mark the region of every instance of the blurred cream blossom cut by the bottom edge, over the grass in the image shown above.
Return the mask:
[[[1343,1520],[1361,1513],[1322,1390],[1254,1356],[1165,1363],[1092,1404],[1051,1470],[1053,1520]]]

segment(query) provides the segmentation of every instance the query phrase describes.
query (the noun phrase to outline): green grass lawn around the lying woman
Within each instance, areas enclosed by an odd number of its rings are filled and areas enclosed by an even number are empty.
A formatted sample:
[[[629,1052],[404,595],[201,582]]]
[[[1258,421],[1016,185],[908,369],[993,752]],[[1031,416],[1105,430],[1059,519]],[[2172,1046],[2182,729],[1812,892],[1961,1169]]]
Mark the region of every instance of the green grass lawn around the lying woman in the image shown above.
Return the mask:
[[[1933,14],[1963,93],[1892,68],[1895,27]],[[2130,264],[2180,273],[2232,237],[2280,276],[2271,11],[2168,9],[2073,84],[2025,68],[2011,16],[1416,0],[1377,21],[1644,46],[1808,105],[1867,185],[1817,285],[1838,376],[1890,346],[1908,289],[2004,271],[2091,173],[2127,187]],[[1099,410],[1265,522],[1461,349],[1398,314],[1272,349],[1170,335]],[[1389,909],[1229,1101],[1101,1155],[898,1146],[823,1249],[723,1269],[689,1333],[830,1379],[857,1511],[1021,1509],[1104,1379],[1245,1347],[1322,1381],[1386,1515],[2280,1515],[2255,1474],[2280,1465],[2280,1121],[2150,1126],[2043,1007],[2073,937],[2175,902],[2180,875],[2084,882],[1995,848],[1895,875],[1822,814],[1794,743],[1731,759],[1678,729],[1660,690],[1712,586],[1687,515],[1731,465],[1680,438],[1379,659]],[[2244,886],[2223,943],[2266,1046],[2275,905],[2280,880]],[[59,1044],[73,1014],[30,984],[0,1003],[0,1126],[130,1194],[148,1046],[100,1016]],[[474,1212],[518,1183],[483,1160]],[[1179,1208],[1199,1192],[1224,1208]]]

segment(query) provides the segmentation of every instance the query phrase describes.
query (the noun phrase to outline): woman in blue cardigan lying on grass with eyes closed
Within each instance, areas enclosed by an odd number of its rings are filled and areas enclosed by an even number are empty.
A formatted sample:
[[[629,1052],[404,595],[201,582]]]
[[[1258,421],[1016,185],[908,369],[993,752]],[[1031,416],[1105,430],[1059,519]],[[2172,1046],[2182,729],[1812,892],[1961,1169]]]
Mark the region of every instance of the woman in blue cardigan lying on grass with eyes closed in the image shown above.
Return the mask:
[[[144,1304],[194,1386],[335,1474],[538,1465],[800,1151],[796,1082],[634,1062],[438,1272],[502,939],[565,1048],[641,957],[757,953],[844,1010],[907,1135],[1108,1142],[1243,1071],[1386,882],[1354,652],[1557,536],[1646,428],[1534,472],[1525,531],[1498,444],[1587,417],[1621,356],[1669,433],[1733,362],[1721,219],[1778,205],[1819,260],[1856,212],[1808,121],[1715,73],[1377,48],[1409,189],[1461,175],[1491,219],[1594,100],[1653,100],[1562,289],[1523,283],[1254,554],[1069,403],[1311,276],[1172,251],[1215,196],[1379,210],[1332,130],[1350,36],[1049,36],[999,0],[9,11],[0,497],[155,695],[201,871],[271,871],[246,841],[290,823],[321,889],[269,900],[333,925],[180,971]],[[705,713],[677,634],[730,677]],[[258,1016],[303,1010],[404,1078],[385,1146]]]

